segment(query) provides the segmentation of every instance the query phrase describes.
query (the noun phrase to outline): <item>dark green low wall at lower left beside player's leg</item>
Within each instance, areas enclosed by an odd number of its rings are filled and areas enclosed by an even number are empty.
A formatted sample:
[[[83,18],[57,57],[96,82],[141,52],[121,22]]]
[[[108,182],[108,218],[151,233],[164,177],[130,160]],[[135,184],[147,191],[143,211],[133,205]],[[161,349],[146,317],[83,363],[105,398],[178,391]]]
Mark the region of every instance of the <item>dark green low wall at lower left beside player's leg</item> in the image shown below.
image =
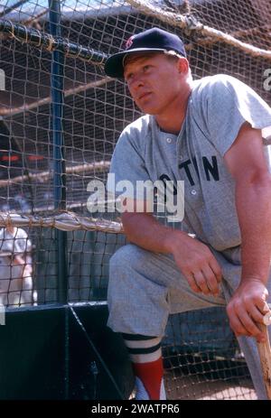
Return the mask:
[[[67,306],[6,312],[0,399],[121,399],[131,393],[126,348],[106,326],[107,305],[73,309],[98,355]]]

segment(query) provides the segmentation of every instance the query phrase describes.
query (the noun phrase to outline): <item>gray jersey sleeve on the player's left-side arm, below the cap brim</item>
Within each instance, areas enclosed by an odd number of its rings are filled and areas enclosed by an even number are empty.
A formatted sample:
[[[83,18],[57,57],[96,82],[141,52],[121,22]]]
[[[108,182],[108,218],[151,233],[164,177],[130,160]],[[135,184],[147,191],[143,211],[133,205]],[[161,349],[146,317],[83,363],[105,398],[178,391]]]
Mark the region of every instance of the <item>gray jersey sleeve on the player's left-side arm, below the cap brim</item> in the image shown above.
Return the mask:
[[[107,191],[116,197],[125,192],[128,198],[145,200],[145,192],[138,187],[138,181],[150,181],[150,176],[138,144],[138,135],[138,132],[133,135],[133,130],[124,131],[113,153],[107,177]]]

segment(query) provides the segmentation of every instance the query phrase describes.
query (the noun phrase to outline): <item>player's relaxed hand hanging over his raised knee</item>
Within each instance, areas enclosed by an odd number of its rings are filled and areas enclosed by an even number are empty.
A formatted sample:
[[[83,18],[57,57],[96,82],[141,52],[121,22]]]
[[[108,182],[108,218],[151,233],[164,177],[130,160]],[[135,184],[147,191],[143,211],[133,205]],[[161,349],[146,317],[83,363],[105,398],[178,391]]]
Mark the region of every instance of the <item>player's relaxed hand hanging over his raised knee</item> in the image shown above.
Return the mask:
[[[173,256],[176,265],[195,293],[220,293],[222,273],[210,248],[190,236],[174,237]]]

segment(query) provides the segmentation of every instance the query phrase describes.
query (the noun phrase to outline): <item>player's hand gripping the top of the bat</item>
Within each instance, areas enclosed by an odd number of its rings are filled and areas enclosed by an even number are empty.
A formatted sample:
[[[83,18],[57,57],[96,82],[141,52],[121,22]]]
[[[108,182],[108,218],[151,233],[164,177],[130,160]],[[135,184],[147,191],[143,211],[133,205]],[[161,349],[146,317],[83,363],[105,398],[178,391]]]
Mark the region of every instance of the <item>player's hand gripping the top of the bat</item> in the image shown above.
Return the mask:
[[[268,291],[259,279],[243,281],[227,306],[230,328],[236,336],[255,337],[264,342],[265,336],[257,323],[270,311],[266,303]]]

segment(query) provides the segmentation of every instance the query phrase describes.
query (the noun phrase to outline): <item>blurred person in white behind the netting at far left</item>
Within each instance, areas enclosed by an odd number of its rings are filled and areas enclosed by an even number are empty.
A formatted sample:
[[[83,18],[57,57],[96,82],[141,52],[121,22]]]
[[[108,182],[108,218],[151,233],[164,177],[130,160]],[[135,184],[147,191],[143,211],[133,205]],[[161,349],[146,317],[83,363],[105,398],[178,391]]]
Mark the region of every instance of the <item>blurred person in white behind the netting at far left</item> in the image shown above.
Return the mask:
[[[0,304],[36,304],[33,292],[32,243],[22,228],[0,229]]]

